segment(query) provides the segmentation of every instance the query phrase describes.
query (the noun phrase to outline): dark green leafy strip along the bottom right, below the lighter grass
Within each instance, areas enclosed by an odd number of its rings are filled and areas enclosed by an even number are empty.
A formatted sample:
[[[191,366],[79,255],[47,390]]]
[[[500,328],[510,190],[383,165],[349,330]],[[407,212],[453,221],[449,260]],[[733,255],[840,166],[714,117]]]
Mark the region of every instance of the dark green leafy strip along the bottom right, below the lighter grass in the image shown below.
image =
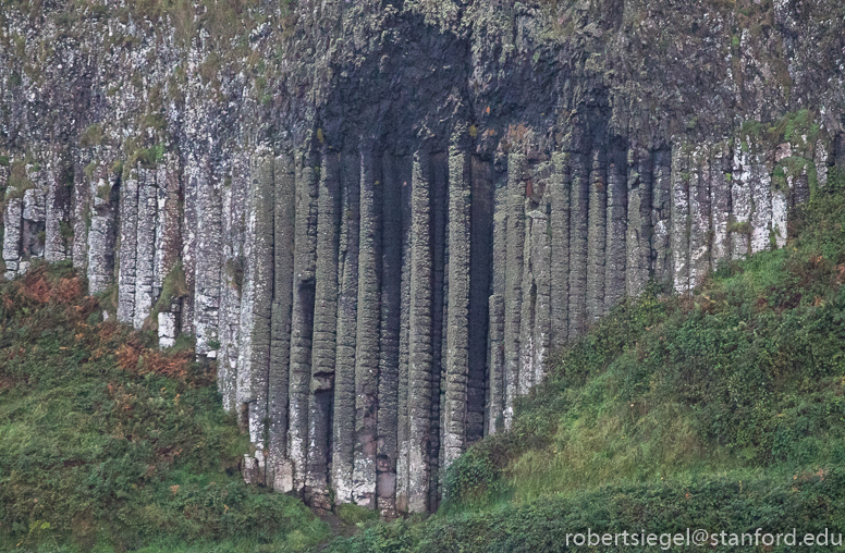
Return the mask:
[[[565,546],[566,534],[586,533],[588,528],[599,533],[625,530],[685,533],[687,528],[736,533],[754,533],[757,528],[784,532],[795,528],[798,536],[820,533],[824,528],[838,531],[845,523],[844,478],[842,469],[836,469],[785,478],[731,472],[658,483],[628,483],[551,495],[492,511],[434,516],[426,524],[400,520],[379,525],[353,539],[336,540],[329,551],[572,551],[572,541],[570,548]],[[660,548],[637,549],[624,546],[620,541],[617,546],[595,550],[659,551]]]

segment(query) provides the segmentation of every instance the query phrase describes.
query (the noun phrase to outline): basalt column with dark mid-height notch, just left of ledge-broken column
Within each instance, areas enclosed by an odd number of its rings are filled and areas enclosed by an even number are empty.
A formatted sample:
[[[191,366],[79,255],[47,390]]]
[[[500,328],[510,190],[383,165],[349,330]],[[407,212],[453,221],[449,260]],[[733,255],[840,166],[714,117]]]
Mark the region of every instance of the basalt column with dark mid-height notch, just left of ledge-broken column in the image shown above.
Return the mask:
[[[294,230],[294,285],[291,314],[291,366],[287,410],[287,456],[293,490],[305,487],[308,440],[308,397],[311,382],[315,272],[317,262],[317,195],[319,175],[310,156],[297,159],[296,224]]]

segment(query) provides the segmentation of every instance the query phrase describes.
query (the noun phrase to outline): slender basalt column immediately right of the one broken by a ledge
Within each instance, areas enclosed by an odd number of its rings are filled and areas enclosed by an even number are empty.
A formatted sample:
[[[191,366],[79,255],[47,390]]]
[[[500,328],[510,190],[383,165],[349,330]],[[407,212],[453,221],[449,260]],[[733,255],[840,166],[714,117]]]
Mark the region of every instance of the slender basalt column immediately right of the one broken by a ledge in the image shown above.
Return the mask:
[[[353,501],[355,448],[355,348],[358,320],[358,243],[360,159],[344,152],[341,193],[341,235],[338,263],[338,364],[334,373],[332,472],[335,503]],[[322,214],[322,211],[320,212]],[[318,275],[319,279],[319,275]]]

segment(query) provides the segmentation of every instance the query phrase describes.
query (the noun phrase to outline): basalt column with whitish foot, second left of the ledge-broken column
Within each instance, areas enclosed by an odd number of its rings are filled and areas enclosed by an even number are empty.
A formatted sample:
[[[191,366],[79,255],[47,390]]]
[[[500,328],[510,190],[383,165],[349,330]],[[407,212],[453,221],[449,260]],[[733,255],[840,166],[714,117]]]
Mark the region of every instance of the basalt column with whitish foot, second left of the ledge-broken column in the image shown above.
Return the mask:
[[[293,156],[275,158],[273,170],[273,299],[270,308],[270,370],[268,372],[268,483],[273,490],[293,489],[287,460],[287,392],[291,364],[291,309],[294,283],[296,182]]]

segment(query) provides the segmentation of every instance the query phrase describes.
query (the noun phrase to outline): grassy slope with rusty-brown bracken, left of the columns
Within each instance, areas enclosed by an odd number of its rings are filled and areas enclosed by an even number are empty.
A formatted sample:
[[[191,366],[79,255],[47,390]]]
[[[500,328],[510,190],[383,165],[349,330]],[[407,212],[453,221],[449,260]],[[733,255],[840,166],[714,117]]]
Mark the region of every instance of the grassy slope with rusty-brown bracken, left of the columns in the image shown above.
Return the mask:
[[[0,284],[0,550],[301,551],[328,529],[244,484],[213,374],[102,322],[68,267]],[[189,544],[189,545],[188,545]]]

